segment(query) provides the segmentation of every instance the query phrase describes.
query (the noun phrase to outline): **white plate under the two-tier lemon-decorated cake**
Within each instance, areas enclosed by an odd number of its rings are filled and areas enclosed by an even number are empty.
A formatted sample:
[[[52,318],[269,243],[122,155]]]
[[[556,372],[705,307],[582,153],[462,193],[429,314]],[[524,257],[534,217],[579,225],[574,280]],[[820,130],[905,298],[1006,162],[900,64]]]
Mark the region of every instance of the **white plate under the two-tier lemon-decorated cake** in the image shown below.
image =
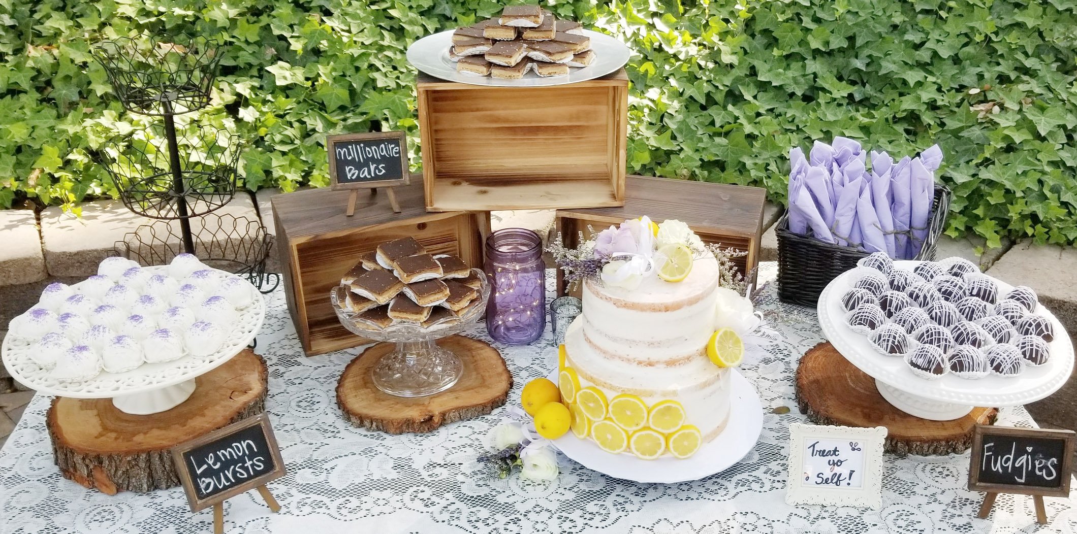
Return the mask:
[[[557,383],[557,371],[548,378]],[[640,460],[630,452],[611,454],[572,432],[555,439],[554,445],[584,467],[637,482],[685,482],[722,473],[755,448],[763,432],[763,403],[755,387],[736,369],[730,382],[731,408],[725,430],[684,460],[669,454],[656,460]]]

